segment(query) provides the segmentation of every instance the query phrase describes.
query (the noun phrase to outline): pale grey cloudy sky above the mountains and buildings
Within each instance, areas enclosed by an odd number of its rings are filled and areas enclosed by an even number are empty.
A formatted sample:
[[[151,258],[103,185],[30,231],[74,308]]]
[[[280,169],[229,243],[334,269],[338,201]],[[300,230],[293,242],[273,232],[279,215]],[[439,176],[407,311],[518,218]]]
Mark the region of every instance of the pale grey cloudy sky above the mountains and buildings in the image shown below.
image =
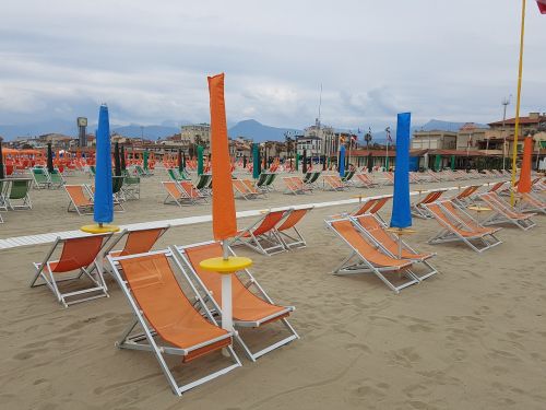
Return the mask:
[[[523,113],[546,112],[546,15],[527,1]],[[87,116],[382,128],[397,112],[488,122],[515,96],[520,0],[8,0],[0,124]],[[512,101],[515,98],[513,97]],[[509,107],[513,115],[514,104]]]

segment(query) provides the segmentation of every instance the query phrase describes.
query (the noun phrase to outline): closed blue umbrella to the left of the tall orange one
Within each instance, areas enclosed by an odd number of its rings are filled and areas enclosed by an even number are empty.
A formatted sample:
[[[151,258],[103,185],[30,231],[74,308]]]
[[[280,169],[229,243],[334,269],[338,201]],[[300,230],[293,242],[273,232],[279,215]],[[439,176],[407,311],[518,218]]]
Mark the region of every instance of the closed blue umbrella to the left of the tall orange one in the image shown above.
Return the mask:
[[[108,120],[108,107],[106,105],[102,105],[98,113],[96,143],[95,206],[93,220],[98,224],[103,224],[114,220],[110,125]]]

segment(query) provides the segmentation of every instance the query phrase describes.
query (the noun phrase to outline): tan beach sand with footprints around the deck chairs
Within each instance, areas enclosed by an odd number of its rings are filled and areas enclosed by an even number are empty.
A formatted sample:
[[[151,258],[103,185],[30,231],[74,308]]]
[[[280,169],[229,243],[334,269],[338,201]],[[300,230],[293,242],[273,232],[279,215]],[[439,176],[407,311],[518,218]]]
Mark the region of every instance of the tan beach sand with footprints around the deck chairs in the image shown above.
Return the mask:
[[[127,202],[116,222],[210,212],[210,206],[163,204],[162,179],[143,180],[142,199]],[[69,177],[79,181],[88,179]],[[266,200],[237,200],[237,209],[391,190],[274,192]],[[66,212],[62,190],[33,190],[32,198],[32,211],[3,213],[0,238],[74,230],[91,221]],[[173,395],[152,354],[114,347],[131,314],[111,278],[111,297],[63,308],[47,289],[28,288],[31,262],[41,260],[50,245],[0,251],[0,408],[545,409],[545,218],[536,216],[530,232],[503,229],[503,244],[482,255],[462,245],[427,245],[437,223],[414,220],[417,233],[407,241],[436,251],[432,263],[441,273],[395,295],[375,277],[330,273],[347,249],[323,220],[347,210],[313,210],[301,224],[305,249],[273,257],[237,249],[254,260],[252,271],[270,296],[296,306],[290,323],[301,339],[257,363],[237,349],[242,367],[182,398]],[[253,220],[239,220],[239,226]],[[210,238],[210,223],[175,227],[157,247]],[[278,329],[254,330],[248,340],[258,343]],[[202,374],[218,363],[225,362],[211,356],[180,366],[178,375]]]

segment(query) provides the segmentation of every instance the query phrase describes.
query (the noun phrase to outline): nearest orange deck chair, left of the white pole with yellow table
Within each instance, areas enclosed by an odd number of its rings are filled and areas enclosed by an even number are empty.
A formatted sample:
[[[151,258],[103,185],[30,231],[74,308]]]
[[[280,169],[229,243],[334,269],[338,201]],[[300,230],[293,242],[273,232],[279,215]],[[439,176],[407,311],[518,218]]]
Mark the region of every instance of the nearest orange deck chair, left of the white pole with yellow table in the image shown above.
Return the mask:
[[[191,281],[189,295],[178,283],[173,267],[178,271],[182,267],[170,250],[108,256],[108,260],[134,315],[117,347],[154,353],[177,396],[241,365],[232,347],[234,333],[217,326]],[[138,326],[141,332],[135,332]],[[222,349],[234,363],[193,382],[179,385],[167,365],[167,355],[181,356],[183,364]]]

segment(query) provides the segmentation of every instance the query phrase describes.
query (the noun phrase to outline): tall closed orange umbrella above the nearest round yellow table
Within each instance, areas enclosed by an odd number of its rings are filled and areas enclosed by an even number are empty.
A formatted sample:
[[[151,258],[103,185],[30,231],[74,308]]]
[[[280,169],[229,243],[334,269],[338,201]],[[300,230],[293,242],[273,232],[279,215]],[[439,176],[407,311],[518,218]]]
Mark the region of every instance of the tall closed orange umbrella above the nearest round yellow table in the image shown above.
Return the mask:
[[[224,241],[237,234],[235,197],[232,185],[229,149],[227,143],[224,73],[209,77],[211,97],[212,151],[212,227],[214,239]]]

